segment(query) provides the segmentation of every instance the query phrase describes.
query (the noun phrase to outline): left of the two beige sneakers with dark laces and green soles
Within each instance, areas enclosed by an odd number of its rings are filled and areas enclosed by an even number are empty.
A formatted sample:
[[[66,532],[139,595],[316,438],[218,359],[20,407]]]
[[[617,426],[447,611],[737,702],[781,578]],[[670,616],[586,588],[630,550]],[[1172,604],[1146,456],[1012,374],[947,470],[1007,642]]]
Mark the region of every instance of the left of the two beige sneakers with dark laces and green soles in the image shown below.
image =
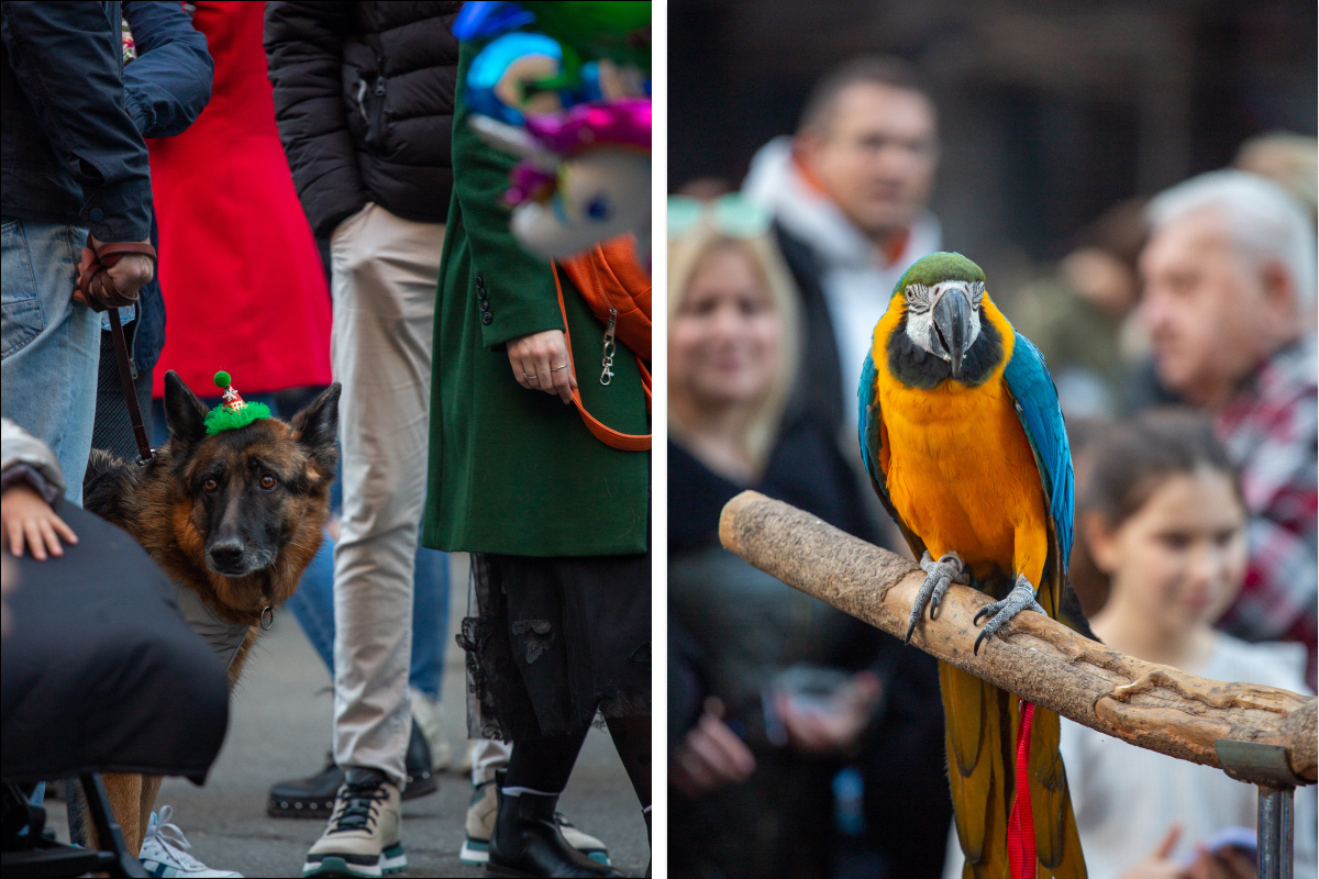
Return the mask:
[[[384,772],[351,767],[326,832],[307,851],[302,875],[375,879],[404,870],[408,855],[398,837],[398,788]]]

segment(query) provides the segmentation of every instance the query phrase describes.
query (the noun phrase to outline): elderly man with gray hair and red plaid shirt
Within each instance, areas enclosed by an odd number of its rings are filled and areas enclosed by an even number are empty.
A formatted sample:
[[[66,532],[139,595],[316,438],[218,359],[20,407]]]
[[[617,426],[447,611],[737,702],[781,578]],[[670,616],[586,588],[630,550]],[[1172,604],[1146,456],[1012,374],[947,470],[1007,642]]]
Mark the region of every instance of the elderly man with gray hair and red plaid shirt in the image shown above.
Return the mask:
[[[1158,377],[1206,410],[1250,511],[1245,585],[1219,627],[1295,640],[1315,685],[1315,228],[1277,184],[1244,171],[1181,183],[1146,208],[1142,318]]]

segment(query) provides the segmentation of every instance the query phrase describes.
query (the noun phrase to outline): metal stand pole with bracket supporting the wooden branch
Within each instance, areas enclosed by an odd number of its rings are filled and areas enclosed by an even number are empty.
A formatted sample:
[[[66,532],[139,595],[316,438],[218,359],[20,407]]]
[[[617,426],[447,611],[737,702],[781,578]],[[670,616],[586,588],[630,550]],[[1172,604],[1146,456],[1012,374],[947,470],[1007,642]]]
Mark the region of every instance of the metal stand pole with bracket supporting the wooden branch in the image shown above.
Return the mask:
[[[1225,738],[1213,749],[1228,776],[1260,788],[1260,879],[1291,879],[1293,793],[1304,781],[1287,764],[1287,749]]]

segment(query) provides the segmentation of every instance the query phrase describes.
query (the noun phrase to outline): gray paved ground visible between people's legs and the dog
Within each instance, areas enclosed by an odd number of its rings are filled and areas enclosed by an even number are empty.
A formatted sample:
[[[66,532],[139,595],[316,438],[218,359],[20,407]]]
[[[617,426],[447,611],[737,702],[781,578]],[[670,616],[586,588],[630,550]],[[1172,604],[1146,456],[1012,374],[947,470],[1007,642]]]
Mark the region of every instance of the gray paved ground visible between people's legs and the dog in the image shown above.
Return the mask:
[[[467,579],[466,571],[458,571],[462,560],[455,561],[450,618],[456,630],[466,611],[467,590],[460,584]],[[452,637],[447,643],[445,722],[455,752],[460,752],[466,735],[463,654]],[[174,807],[174,822],[193,843],[195,857],[247,876],[302,875],[303,855],[323,824],[266,817],[265,795],[273,781],[310,775],[323,766],[332,710],[328,683],[324,666],[293,615],[276,614],[274,627],[257,644],[233,696],[230,731],[206,787],[166,779],[157,799],[157,808]],[[458,861],[470,796],[470,779],[446,772],[438,793],[404,803],[409,868],[402,875],[483,875]],[[67,838],[63,804],[50,805],[50,824]],[[591,731],[561,809],[609,845],[620,870],[642,874],[649,857],[645,824],[607,733]]]

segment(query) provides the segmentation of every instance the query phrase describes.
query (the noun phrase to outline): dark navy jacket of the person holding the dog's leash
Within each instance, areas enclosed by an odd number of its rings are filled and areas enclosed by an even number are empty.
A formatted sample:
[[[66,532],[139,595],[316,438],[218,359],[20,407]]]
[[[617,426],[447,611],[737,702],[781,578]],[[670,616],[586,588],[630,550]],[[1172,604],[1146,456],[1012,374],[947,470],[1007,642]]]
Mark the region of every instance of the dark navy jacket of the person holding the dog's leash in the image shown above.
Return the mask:
[[[0,4],[0,213],[150,232],[146,145],[124,107],[120,4]]]

